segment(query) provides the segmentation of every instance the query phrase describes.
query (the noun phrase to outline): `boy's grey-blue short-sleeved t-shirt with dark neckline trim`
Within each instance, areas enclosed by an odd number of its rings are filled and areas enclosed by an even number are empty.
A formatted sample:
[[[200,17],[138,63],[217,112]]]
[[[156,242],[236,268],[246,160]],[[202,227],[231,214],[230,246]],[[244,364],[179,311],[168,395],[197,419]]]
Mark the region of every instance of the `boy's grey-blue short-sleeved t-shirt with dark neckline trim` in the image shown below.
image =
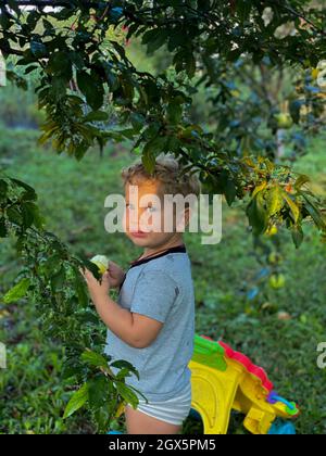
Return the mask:
[[[181,394],[190,382],[188,364],[195,338],[195,293],[186,246],[131,263],[117,302],[133,313],[163,322],[155,341],[145,349],[128,345],[108,329],[105,353],[114,360],[129,362],[139,371],[139,381],[133,375],[126,383],[149,401]],[[112,370],[117,373],[120,369]]]

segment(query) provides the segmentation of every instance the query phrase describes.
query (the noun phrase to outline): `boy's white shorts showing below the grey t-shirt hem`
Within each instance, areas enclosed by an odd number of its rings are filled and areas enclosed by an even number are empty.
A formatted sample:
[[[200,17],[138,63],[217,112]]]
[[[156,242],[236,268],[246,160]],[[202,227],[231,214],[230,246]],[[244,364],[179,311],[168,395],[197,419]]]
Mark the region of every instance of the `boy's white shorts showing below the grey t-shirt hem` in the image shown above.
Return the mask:
[[[146,403],[143,398],[139,398],[137,409],[171,425],[183,425],[191,409],[191,383],[188,383],[181,394],[167,401]]]

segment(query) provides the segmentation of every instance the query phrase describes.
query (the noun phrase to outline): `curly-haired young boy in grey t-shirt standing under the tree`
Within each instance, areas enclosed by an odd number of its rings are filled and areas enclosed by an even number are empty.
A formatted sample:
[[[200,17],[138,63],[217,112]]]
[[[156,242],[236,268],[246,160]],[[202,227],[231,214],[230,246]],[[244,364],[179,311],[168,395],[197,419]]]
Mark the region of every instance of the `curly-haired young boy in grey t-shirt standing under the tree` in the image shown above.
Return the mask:
[[[148,400],[146,403],[138,396],[137,409],[129,404],[125,407],[129,434],[177,434],[191,408],[188,363],[193,352],[195,295],[191,264],[183,241],[191,204],[186,203],[181,212],[174,206],[172,229],[164,231],[164,208],[168,205],[164,195],[200,194],[198,178],[193,174],[181,176],[181,169],[172,155],[161,154],[152,175],[141,161],[123,170],[124,230],[143,253],[130,262],[126,274],[110,262],[101,284],[87,269],[84,275],[108,327],[105,353],[135,366],[140,380],[133,376],[127,383]],[[149,195],[154,198],[142,207],[141,198]],[[161,230],[151,231],[149,224],[145,226],[149,214],[161,223]],[[110,288],[120,288],[117,303],[110,299]]]

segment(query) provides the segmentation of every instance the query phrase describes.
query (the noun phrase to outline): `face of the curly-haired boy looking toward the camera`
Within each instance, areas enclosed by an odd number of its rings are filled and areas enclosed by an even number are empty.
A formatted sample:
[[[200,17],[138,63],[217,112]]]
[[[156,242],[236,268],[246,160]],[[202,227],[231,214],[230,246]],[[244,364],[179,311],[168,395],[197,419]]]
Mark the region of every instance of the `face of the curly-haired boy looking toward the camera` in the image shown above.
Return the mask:
[[[126,207],[123,227],[126,236],[137,245],[152,248],[164,244],[176,233],[175,217],[171,217],[171,229],[164,232],[164,195],[155,180],[128,182],[125,186]],[[142,200],[142,201],[141,201]],[[137,205],[137,207],[136,207]],[[170,212],[168,212],[170,213]]]

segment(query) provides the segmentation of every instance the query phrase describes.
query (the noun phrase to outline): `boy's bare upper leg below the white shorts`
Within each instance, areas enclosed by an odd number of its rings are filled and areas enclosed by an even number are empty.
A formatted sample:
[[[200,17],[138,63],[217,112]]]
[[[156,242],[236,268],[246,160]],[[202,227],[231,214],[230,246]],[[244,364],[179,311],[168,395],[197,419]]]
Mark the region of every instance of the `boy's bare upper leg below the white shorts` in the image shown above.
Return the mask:
[[[131,406],[125,407],[125,417],[128,434],[178,434],[181,426],[170,425],[168,422],[150,417]]]

